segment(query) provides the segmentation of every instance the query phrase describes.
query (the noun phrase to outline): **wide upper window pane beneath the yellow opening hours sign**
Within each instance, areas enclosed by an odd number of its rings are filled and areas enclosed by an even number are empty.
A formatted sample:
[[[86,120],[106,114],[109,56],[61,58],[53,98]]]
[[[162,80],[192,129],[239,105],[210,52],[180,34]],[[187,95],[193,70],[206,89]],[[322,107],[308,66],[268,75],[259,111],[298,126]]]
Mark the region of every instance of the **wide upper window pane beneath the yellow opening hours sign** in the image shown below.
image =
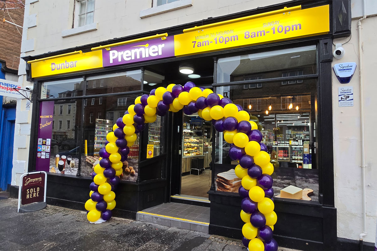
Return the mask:
[[[217,82],[243,81],[256,75],[262,79],[281,78],[282,73],[297,71],[297,68],[303,71],[303,75],[317,72],[316,46],[221,58],[218,60]]]

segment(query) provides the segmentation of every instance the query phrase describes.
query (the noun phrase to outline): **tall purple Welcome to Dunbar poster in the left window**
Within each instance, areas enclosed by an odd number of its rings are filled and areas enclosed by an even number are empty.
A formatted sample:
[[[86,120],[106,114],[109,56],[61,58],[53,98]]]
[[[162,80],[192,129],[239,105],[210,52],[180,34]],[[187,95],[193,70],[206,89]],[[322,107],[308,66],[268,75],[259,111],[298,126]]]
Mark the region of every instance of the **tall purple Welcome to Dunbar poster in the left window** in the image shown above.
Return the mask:
[[[37,161],[35,170],[49,172],[50,145],[52,136],[52,119],[54,101],[43,101],[39,107]]]

